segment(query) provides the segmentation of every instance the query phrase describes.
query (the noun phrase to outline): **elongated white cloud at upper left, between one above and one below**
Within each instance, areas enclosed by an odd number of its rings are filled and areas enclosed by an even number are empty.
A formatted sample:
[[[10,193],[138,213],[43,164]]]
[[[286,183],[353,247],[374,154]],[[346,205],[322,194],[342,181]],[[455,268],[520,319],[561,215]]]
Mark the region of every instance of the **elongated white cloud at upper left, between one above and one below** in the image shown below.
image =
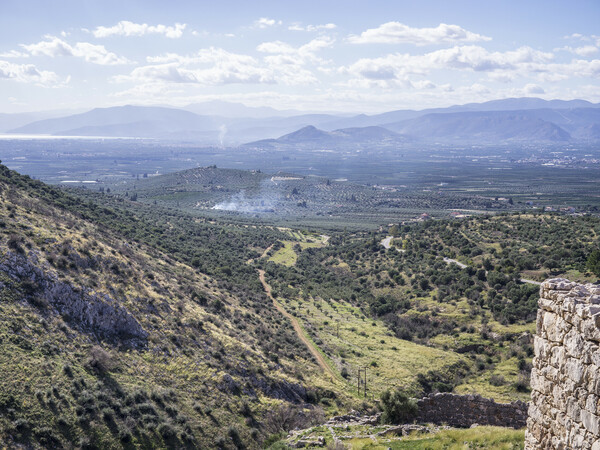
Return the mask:
[[[47,39],[46,41],[41,41],[37,44],[22,44],[21,47],[33,56],[49,56],[51,58],[57,56],[74,56],[76,58],[82,58],[87,62],[103,66],[130,63],[127,58],[109,52],[103,45],[90,44],[89,42],[77,42],[72,46],[55,36],[45,36],[45,38]]]

